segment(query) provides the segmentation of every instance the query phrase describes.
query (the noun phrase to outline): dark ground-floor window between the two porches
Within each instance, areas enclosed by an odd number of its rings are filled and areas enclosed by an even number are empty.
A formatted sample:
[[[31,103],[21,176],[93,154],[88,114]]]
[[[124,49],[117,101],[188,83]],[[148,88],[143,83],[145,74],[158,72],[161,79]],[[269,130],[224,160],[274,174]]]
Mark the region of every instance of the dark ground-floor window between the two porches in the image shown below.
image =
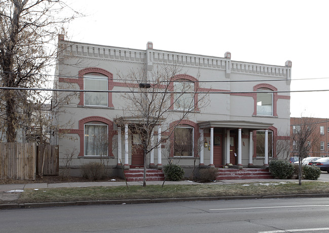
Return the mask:
[[[174,156],[194,156],[194,128],[176,127],[174,130]]]

